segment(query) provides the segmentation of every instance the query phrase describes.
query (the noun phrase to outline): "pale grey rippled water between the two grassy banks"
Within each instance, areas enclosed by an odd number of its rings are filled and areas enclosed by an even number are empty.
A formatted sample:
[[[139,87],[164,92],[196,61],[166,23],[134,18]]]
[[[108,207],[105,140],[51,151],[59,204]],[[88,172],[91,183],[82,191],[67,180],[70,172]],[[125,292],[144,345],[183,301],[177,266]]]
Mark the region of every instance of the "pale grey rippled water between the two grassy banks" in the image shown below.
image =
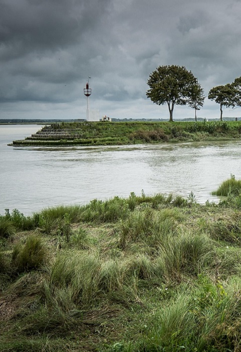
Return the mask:
[[[15,208],[25,215],[60,204],[128,197],[144,190],[187,197],[199,203],[222,181],[241,178],[241,141],[130,146],[13,147],[41,129],[0,126],[0,214]]]

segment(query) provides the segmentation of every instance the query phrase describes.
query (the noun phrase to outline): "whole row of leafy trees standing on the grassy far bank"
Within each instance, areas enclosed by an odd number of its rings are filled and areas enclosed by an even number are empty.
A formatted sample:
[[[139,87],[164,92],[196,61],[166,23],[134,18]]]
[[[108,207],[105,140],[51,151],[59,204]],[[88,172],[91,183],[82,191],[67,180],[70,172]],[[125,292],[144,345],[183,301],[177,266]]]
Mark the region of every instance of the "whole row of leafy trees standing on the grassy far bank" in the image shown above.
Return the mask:
[[[150,87],[146,95],[158,105],[167,104],[169,121],[173,121],[174,105],[188,105],[196,111],[204,104],[204,91],[191,71],[182,66],[159,66],[153,71],[147,81]],[[241,77],[232,83],[213,87],[208,93],[208,99],[214,100],[220,106],[220,121],[222,107],[241,106]]]

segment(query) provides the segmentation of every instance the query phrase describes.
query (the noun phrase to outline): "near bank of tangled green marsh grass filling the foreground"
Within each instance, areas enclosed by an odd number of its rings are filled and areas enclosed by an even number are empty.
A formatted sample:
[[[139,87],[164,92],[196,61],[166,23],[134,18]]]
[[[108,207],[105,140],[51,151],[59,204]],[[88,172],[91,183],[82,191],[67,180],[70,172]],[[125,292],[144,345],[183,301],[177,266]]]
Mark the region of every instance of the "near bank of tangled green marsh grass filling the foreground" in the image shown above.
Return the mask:
[[[0,217],[0,350],[239,351],[241,198]]]

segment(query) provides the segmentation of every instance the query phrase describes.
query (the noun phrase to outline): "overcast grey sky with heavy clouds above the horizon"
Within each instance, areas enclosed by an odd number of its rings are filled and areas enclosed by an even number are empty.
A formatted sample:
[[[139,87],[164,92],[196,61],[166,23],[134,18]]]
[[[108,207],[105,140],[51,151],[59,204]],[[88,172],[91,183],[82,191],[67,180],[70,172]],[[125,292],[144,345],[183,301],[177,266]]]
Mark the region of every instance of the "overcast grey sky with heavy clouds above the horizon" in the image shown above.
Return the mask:
[[[100,117],[169,118],[146,97],[158,66],[184,66],[207,96],[241,76],[240,58],[240,0],[0,0],[0,118],[86,118],[88,77]],[[219,115],[207,98],[197,112]]]

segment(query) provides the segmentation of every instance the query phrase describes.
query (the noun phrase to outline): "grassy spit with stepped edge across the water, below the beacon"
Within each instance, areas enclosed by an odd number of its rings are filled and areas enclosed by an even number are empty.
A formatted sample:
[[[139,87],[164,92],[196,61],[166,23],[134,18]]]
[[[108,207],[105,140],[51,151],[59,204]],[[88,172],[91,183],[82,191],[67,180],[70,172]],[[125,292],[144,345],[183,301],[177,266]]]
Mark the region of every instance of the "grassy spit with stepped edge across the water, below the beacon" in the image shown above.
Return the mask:
[[[214,122],[63,122],[45,126],[13,145],[124,145],[239,139],[240,121]]]

